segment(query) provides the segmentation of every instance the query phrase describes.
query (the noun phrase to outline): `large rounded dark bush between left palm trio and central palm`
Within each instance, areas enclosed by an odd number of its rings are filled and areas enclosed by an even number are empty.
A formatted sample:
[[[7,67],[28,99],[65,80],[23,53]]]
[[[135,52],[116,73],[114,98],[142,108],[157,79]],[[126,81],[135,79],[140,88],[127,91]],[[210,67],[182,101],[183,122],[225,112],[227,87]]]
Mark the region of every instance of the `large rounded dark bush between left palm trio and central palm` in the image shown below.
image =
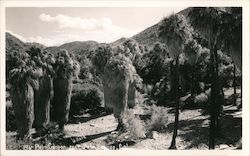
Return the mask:
[[[72,91],[70,114],[81,113],[84,109],[100,107],[103,101],[103,93],[96,85],[85,83],[75,84]]]

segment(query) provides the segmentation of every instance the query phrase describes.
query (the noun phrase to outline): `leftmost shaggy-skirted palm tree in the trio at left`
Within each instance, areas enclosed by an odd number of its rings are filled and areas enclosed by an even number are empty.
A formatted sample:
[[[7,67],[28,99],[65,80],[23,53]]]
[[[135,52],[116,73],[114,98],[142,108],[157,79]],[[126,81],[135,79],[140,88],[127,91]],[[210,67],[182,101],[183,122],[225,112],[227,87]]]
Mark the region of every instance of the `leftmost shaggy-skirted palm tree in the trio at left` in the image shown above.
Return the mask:
[[[28,141],[34,121],[34,91],[41,72],[26,52],[21,52],[9,73],[11,100],[14,107],[18,138]]]

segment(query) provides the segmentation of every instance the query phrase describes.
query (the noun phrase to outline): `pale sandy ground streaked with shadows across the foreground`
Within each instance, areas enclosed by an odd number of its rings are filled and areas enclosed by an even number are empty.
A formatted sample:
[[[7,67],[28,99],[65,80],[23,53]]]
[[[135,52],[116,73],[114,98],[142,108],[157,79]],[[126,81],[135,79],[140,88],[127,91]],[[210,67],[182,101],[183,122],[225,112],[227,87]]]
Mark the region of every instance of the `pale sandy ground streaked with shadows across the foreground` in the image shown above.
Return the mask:
[[[225,92],[229,98],[233,90]],[[115,131],[117,122],[112,114],[100,111],[97,115],[83,114],[75,117],[65,126],[63,136],[54,140],[54,145],[66,149],[168,149],[172,139],[174,113],[169,112],[169,124],[163,132],[153,131],[150,137],[137,141],[128,139],[112,140],[120,135]],[[221,117],[222,136],[216,139],[216,149],[240,149],[242,136],[242,111],[236,106],[224,106]],[[7,133],[7,144],[13,144],[14,132]],[[177,149],[208,149],[209,116],[202,115],[202,110],[184,110],[180,112],[179,129],[176,139]],[[46,143],[45,143],[46,144]],[[8,147],[7,147],[8,148]],[[12,147],[9,147],[12,149]]]

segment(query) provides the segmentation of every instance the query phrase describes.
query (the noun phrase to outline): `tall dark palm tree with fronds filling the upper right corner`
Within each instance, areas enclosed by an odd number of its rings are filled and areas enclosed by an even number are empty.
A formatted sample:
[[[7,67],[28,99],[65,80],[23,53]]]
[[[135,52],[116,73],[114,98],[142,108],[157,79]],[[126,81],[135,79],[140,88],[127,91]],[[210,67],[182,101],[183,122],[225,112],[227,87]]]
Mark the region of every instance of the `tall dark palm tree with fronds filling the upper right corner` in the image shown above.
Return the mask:
[[[219,128],[220,84],[218,83],[217,49],[237,49],[235,62],[241,66],[241,9],[240,8],[192,8],[188,14],[191,25],[208,39],[211,60],[212,86],[210,109],[209,149],[215,147],[215,133]],[[235,42],[235,44],[231,44]],[[233,41],[232,41],[233,40]],[[240,55],[239,55],[240,54]],[[238,59],[240,58],[240,60]]]

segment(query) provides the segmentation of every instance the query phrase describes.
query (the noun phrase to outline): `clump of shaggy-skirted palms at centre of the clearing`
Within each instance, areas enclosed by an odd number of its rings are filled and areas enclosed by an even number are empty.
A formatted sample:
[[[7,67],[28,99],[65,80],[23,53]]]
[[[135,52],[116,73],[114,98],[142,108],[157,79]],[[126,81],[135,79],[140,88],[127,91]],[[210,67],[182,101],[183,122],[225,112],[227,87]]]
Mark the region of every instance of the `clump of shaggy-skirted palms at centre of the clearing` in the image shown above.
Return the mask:
[[[99,47],[96,50],[93,64],[102,79],[105,107],[113,110],[114,117],[118,120],[117,130],[124,130],[124,113],[128,104],[131,104],[128,102],[131,100],[129,87],[133,89],[141,79],[136,73],[131,59],[124,53],[119,51],[115,51],[115,53],[113,50],[108,45]]]

